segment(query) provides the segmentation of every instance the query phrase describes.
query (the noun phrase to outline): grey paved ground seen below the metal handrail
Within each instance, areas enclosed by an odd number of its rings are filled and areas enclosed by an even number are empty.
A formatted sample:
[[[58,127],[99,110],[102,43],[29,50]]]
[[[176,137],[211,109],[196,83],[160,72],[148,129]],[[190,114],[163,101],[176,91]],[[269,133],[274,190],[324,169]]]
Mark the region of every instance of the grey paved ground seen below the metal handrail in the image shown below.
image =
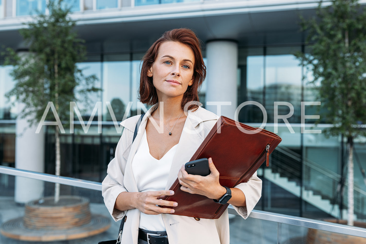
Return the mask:
[[[104,204],[91,203],[92,213],[98,213],[110,217]],[[0,197],[0,224],[9,219],[24,215],[24,207],[16,206],[14,199],[10,196]],[[111,218],[111,228],[106,232],[91,236],[85,239],[70,241],[43,242],[43,244],[97,244],[102,240],[116,239],[119,222],[114,222]],[[306,229],[296,226],[281,225],[282,243],[303,243]],[[18,241],[8,239],[0,235],[0,244],[35,244],[36,242]],[[38,243],[38,242],[37,242]],[[244,220],[239,216],[230,219],[230,243],[231,244],[268,244],[277,243],[277,223],[248,218]]]

